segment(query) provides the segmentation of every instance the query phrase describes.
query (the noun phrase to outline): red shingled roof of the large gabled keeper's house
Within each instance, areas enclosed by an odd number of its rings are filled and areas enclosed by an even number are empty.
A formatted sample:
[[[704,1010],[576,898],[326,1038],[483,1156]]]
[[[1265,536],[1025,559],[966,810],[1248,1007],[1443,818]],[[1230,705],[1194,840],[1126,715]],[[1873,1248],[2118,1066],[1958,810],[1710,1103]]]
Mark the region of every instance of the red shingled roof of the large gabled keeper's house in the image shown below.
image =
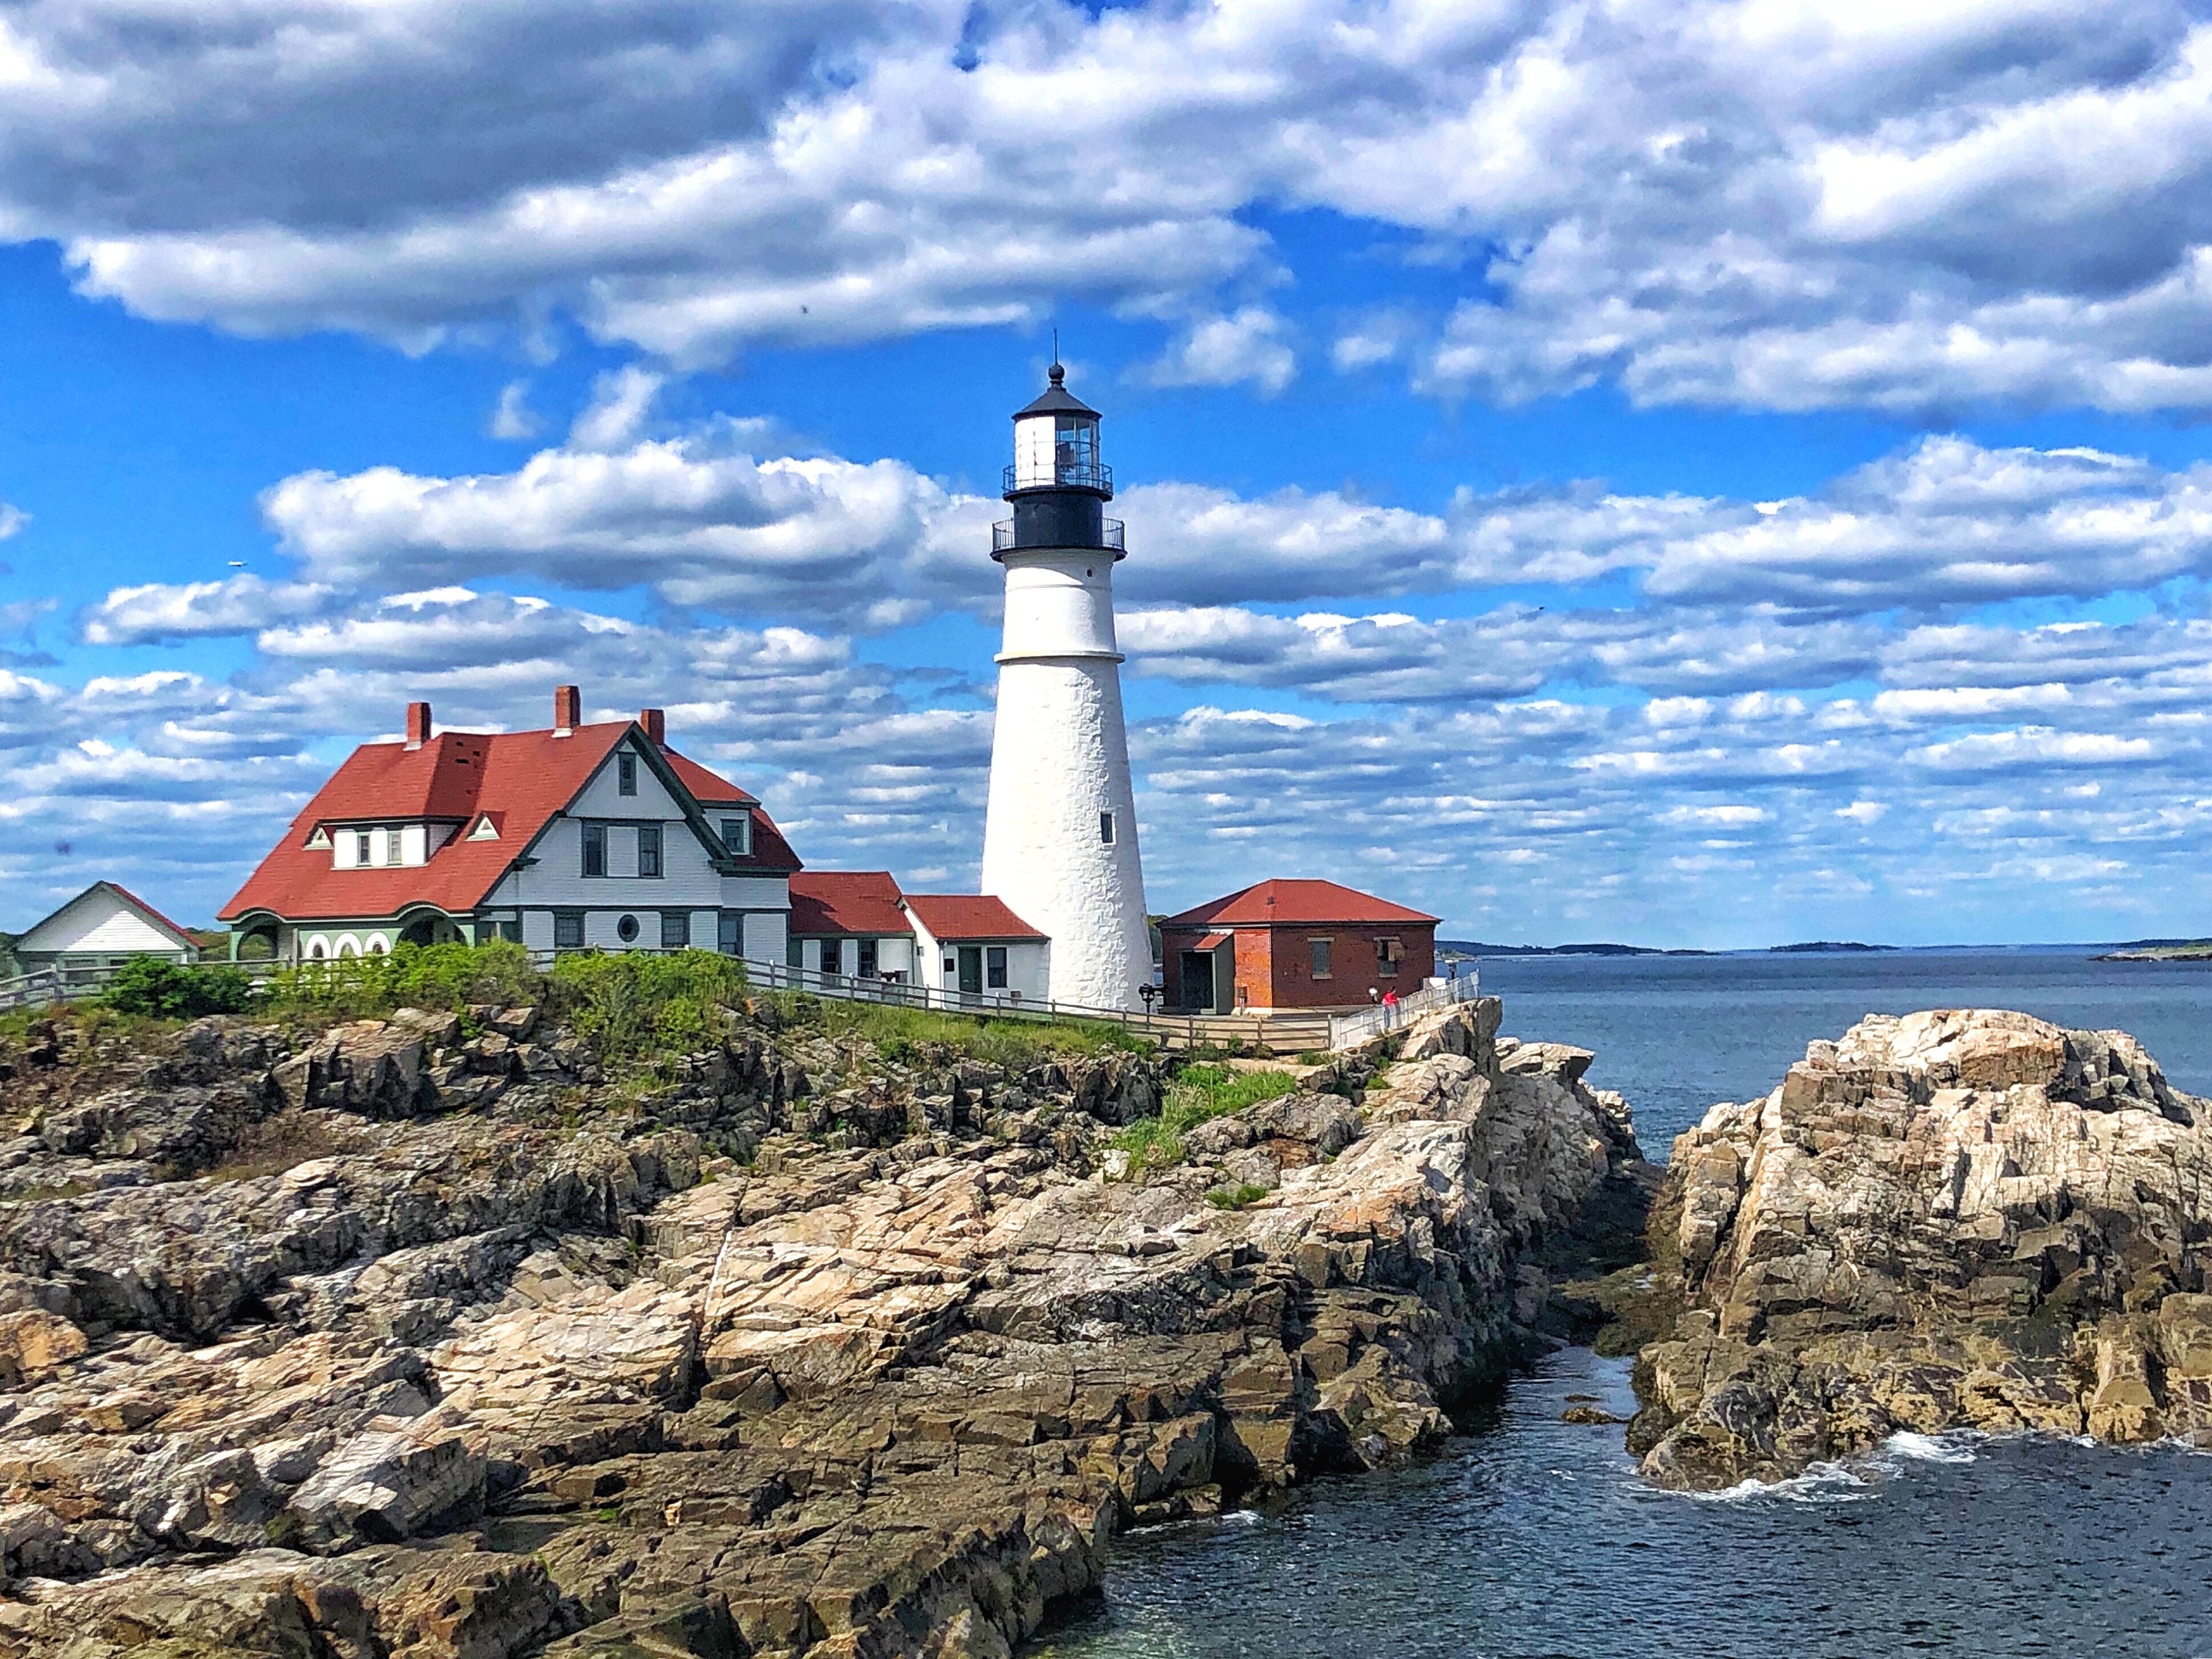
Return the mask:
[[[476,909],[633,730],[644,741],[633,721],[608,721],[577,726],[573,737],[553,737],[551,730],[440,732],[418,750],[363,743],[316,790],[283,841],[217,916],[228,922],[254,909],[285,920],[394,916],[409,905],[436,905],[451,914]],[[708,805],[752,805],[750,794],[697,761],[661,752],[695,796],[712,792]],[[498,841],[469,841],[469,827],[487,814],[500,832]],[[316,825],[403,818],[447,818],[456,823],[456,834],[427,863],[396,869],[334,869],[327,847],[305,845]],[[799,869],[783,832],[759,805],[752,805],[752,856],[741,863],[763,872]]]

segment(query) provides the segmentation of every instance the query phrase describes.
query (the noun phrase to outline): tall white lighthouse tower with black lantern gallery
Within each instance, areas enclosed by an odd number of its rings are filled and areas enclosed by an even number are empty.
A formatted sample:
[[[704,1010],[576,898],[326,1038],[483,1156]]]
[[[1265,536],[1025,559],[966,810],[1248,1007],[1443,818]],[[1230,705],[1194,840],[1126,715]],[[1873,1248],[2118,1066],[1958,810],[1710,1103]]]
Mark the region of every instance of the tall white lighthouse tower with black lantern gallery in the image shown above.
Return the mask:
[[[1135,1009],[1152,982],[1137,863],[1137,803],[1121,726],[1113,566],[1121,520],[1104,518],[1113,469],[1099,416],[1062,385],[1013,416],[1006,500],[991,557],[1006,566],[982,889],[1051,938],[1051,995]]]

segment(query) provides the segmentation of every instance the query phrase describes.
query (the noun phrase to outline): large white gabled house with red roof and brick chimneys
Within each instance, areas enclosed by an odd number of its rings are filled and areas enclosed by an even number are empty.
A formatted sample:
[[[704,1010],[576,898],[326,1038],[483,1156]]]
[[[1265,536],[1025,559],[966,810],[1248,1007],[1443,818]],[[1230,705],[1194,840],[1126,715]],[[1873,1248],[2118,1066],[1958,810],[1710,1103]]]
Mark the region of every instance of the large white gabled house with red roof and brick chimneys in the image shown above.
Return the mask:
[[[542,732],[363,743],[221,909],[239,956],[319,960],[509,938],[783,960],[799,869],[761,803],[668,748],[661,710]]]

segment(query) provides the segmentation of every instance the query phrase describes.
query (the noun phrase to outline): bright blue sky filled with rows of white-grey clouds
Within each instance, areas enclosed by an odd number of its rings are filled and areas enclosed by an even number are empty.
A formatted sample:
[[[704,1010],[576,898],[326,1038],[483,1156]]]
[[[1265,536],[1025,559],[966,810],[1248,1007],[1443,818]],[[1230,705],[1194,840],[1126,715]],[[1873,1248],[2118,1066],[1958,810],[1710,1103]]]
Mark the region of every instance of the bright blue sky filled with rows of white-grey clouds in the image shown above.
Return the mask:
[[[1006,414],[1130,524],[1155,909],[2212,931],[2201,4],[0,20],[0,929],[411,697],[973,880]]]

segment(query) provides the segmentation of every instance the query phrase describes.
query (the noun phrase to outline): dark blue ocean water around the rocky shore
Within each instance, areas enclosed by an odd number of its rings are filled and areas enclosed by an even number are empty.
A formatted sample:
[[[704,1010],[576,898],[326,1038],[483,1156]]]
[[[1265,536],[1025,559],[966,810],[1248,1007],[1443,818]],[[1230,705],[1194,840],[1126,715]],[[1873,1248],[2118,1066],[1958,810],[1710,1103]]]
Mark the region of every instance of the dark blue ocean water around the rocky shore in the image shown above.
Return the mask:
[[[2086,951],[1509,958],[1506,1031],[1597,1051],[1646,1150],[1765,1093],[1863,1013],[2013,1006],[2132,1031],[2212,1095],[2212,969]],[[2212,1455],[1898,1436],[1778,1489],[1688,1498],[1635,1475],[1628,1363],[1566,1349],[1411,1471],[1323,1480],[1267,1515],[1115,1546],[1051,1659],[2212,1659]]]

